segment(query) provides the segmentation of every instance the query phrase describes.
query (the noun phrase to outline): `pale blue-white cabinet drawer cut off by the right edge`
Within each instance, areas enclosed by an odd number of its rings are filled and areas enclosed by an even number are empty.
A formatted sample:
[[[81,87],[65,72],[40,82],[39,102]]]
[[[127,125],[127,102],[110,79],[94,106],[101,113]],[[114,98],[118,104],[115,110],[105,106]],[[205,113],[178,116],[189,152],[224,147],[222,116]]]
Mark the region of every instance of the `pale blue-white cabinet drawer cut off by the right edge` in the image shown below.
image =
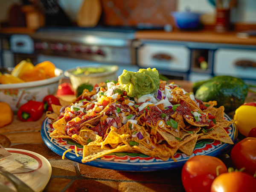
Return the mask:
[[[214,73],[256,79],[256,51],[218,49],[214,56]]]

